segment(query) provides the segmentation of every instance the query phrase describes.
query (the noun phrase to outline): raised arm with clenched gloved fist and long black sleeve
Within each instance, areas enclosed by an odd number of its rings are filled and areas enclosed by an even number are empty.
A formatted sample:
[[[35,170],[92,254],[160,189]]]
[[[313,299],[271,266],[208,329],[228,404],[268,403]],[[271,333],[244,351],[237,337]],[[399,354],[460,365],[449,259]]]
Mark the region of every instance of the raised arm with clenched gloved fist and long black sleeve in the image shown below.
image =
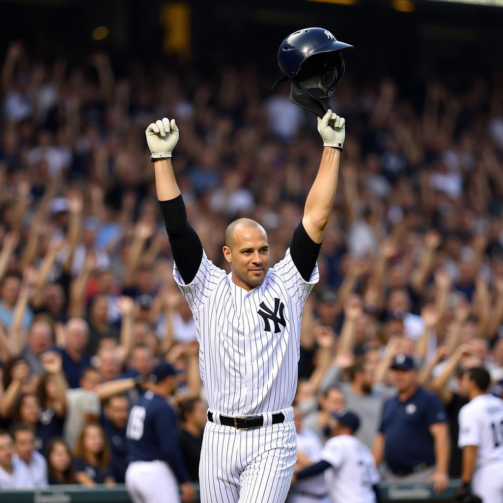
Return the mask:
[[[171,155],[180,133],[175,123],[165,117],[150,124],[146,131],[147,144],[154,163],[157,199],[166,225],[173,260],[186,284],[191,283],[201,265],[203,246],[196,231],[187,221],[187,211],[178,188]]]

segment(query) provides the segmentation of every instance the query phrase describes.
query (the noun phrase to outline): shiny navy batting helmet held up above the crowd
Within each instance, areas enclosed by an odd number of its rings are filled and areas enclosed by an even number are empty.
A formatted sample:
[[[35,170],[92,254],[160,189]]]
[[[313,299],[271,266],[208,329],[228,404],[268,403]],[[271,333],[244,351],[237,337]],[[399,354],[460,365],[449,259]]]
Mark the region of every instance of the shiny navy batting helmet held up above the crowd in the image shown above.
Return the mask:
[[[290,81],[290,101],[323,116],[333,92],[344,75],[341,49],[353,47],[340,42],[324,28],[304,28],[289,35],[278,50],[283,72],[273,86]]]

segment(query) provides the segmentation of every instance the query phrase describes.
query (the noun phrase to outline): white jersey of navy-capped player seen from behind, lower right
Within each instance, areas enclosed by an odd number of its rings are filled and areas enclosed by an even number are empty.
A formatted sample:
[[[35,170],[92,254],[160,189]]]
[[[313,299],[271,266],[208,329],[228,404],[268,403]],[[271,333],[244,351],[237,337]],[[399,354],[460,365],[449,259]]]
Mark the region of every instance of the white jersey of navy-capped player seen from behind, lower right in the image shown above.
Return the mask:
[[[375,503],[372,486],[380,478],[365,444],[352,435],[332,437],[321,459],[331,465],[325,470],[325,484],[333,503]]]

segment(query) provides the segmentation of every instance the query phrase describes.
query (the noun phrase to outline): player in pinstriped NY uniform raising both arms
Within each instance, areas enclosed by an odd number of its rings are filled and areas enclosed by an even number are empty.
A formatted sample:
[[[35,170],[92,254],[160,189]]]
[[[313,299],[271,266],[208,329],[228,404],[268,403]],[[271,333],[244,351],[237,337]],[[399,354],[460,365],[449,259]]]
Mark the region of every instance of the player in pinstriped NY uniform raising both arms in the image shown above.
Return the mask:
[[[264,227],[241,218],[225,233],[231,272],[214,266],[187,221],[171,165],[179,131],[164,118],[148,126],[157,198],[200,344],[208,398],[200,463],[203,503],[284,502],[296,459],[292,402],[301,314],[318,281],[316,260],[337,188],[344,119],[318,118],[323,155],[285,258],[269,267]]]

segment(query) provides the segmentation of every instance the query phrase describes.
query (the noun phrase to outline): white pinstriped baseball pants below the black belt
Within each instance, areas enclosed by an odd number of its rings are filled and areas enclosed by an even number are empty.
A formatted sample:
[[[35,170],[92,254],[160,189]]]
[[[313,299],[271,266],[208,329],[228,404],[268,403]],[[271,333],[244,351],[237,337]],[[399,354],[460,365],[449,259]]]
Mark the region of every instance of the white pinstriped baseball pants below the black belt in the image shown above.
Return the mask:
[[[206,424],[199,465],[201,503],[284,503],[297,460],[291,410],[286,409],[285,423],[251,430]]]

